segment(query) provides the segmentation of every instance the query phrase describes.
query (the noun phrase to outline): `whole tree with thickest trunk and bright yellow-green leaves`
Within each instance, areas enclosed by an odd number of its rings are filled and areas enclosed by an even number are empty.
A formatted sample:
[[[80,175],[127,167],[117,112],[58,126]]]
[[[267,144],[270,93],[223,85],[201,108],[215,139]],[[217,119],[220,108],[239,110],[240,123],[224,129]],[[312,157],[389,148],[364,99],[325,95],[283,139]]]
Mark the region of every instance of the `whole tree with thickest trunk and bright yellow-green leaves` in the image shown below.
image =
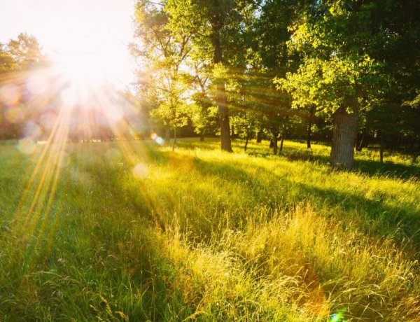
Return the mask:
[[[367,27],[372,6],[317,1],[314,10],[289,42],[292,50],[304,55],[302,64],[296,73],[275,82],[292,94],[294,107],[315,105],[317,113],[332,118],[330,164],[351,168],[358,116],[369,109],[381,87],[381,64],[365,50],[372,40]]]

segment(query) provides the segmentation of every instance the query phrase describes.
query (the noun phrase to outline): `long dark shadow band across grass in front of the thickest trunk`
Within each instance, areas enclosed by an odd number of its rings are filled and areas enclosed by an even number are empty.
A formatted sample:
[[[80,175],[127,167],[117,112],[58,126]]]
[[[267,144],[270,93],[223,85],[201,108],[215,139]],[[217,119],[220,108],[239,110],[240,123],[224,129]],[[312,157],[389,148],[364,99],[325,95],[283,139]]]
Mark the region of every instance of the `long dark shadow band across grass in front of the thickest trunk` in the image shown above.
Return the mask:
[[[217,161],[196,160],[196,162],[196,169],[205,176],[241,181],[248,185],[249,193],[244,195],[244,199],[253,198],[253,202],[269,208],[290,207],[300,202],[309,202],[316,211],[321,211],[326,206],[327,209],[331,209],[327,216],[333,218],[338,215],[337,220],[344,220],[344,223],[352,221],[367,235],[379,239],[394,237],[397,241],[413,239],[415,247],[420,249],[420,240],[414,240],[414,236],[418,235],[420,230],[420,214],[412,210],[410,204],[401,204],[400,207],[385,204],[390,196],[378,193],[375,196],[377,199],[372,200],[363,195],[343,193],[332,188],[318,188],[307,183],[295,183],[263,167],[258,167],[258,174],[269,180],[269,182],[262,182],[252,180],[251,174],[234,165]],[[249,186],[250,183],[251,186]],[[265,197],[276,192],[279,195],[278,203],[267,203]],[[358,218],[353,218],[354,214],[358,214]]]

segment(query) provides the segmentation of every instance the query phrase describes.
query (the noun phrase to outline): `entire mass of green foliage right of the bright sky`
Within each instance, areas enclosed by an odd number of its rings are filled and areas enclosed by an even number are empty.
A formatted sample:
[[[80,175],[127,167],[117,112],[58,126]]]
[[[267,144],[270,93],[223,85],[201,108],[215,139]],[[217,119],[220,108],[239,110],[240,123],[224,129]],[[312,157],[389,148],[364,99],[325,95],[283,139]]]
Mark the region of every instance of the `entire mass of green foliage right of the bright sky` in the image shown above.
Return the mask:
[[[208,113],[216,106],[225,138],[229,118],[242,134],[254,119],[251,132],[272,139],[310,138],[316,118],[329,139],[341,107],[357,114],[359,135],[415,151],[416,8],[414,0],[137,1],[143,48],[133,51],[151,58],[139,59],[139,87],[161,123],[190,118],[197,133],[218,132]]]

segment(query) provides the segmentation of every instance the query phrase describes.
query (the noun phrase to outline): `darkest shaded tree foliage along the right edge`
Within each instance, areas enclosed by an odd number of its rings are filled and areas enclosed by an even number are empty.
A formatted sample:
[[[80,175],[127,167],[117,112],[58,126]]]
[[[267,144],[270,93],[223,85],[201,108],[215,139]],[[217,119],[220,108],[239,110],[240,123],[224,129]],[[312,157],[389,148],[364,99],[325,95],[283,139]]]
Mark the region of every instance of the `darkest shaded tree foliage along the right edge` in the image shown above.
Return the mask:
[[[375,4],[372,28],[380,33],[371,39],[367,50],[385,63],[388,87],[381,104],[374,106],[366,118],[365,130],[379,141],[381,155],[384,148],[398,146],[405,152],[420,151],[420,106],[416,104],[420,89],[420,20],[415,15],[420,2],[381,0]]]

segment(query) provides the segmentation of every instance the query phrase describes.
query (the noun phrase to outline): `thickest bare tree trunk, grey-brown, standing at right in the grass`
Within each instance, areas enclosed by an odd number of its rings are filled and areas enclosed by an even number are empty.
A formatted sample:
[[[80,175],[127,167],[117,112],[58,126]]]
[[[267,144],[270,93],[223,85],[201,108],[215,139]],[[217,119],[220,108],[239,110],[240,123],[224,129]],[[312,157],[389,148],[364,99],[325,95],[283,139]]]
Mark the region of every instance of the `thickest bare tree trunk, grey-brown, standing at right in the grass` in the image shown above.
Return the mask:
[[[334,113],[333,125],[330,164],[335,168],[351,169],[357,134],[357,113],[347,113],[345,107],[340,107]]]

